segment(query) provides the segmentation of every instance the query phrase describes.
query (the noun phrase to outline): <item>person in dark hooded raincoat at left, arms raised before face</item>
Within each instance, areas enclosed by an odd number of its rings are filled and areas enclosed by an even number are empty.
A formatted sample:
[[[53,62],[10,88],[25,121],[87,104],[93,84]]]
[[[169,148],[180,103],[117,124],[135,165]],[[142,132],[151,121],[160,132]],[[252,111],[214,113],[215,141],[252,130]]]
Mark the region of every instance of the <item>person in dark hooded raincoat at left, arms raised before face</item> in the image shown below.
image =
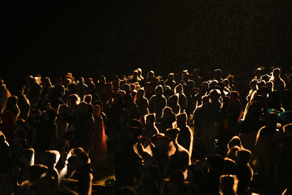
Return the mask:
[[[39,163],[40,154],[50,149],[57,125],[55,123],[56,111],[54,109],[48,109],[42,113],[39,110],[36,110],[36,112],[38,112],[36,115],[40,117],[40,122],[33,124],[33,127],[37,129],[33,140],[33,149],[36,152],[36,162]]]

